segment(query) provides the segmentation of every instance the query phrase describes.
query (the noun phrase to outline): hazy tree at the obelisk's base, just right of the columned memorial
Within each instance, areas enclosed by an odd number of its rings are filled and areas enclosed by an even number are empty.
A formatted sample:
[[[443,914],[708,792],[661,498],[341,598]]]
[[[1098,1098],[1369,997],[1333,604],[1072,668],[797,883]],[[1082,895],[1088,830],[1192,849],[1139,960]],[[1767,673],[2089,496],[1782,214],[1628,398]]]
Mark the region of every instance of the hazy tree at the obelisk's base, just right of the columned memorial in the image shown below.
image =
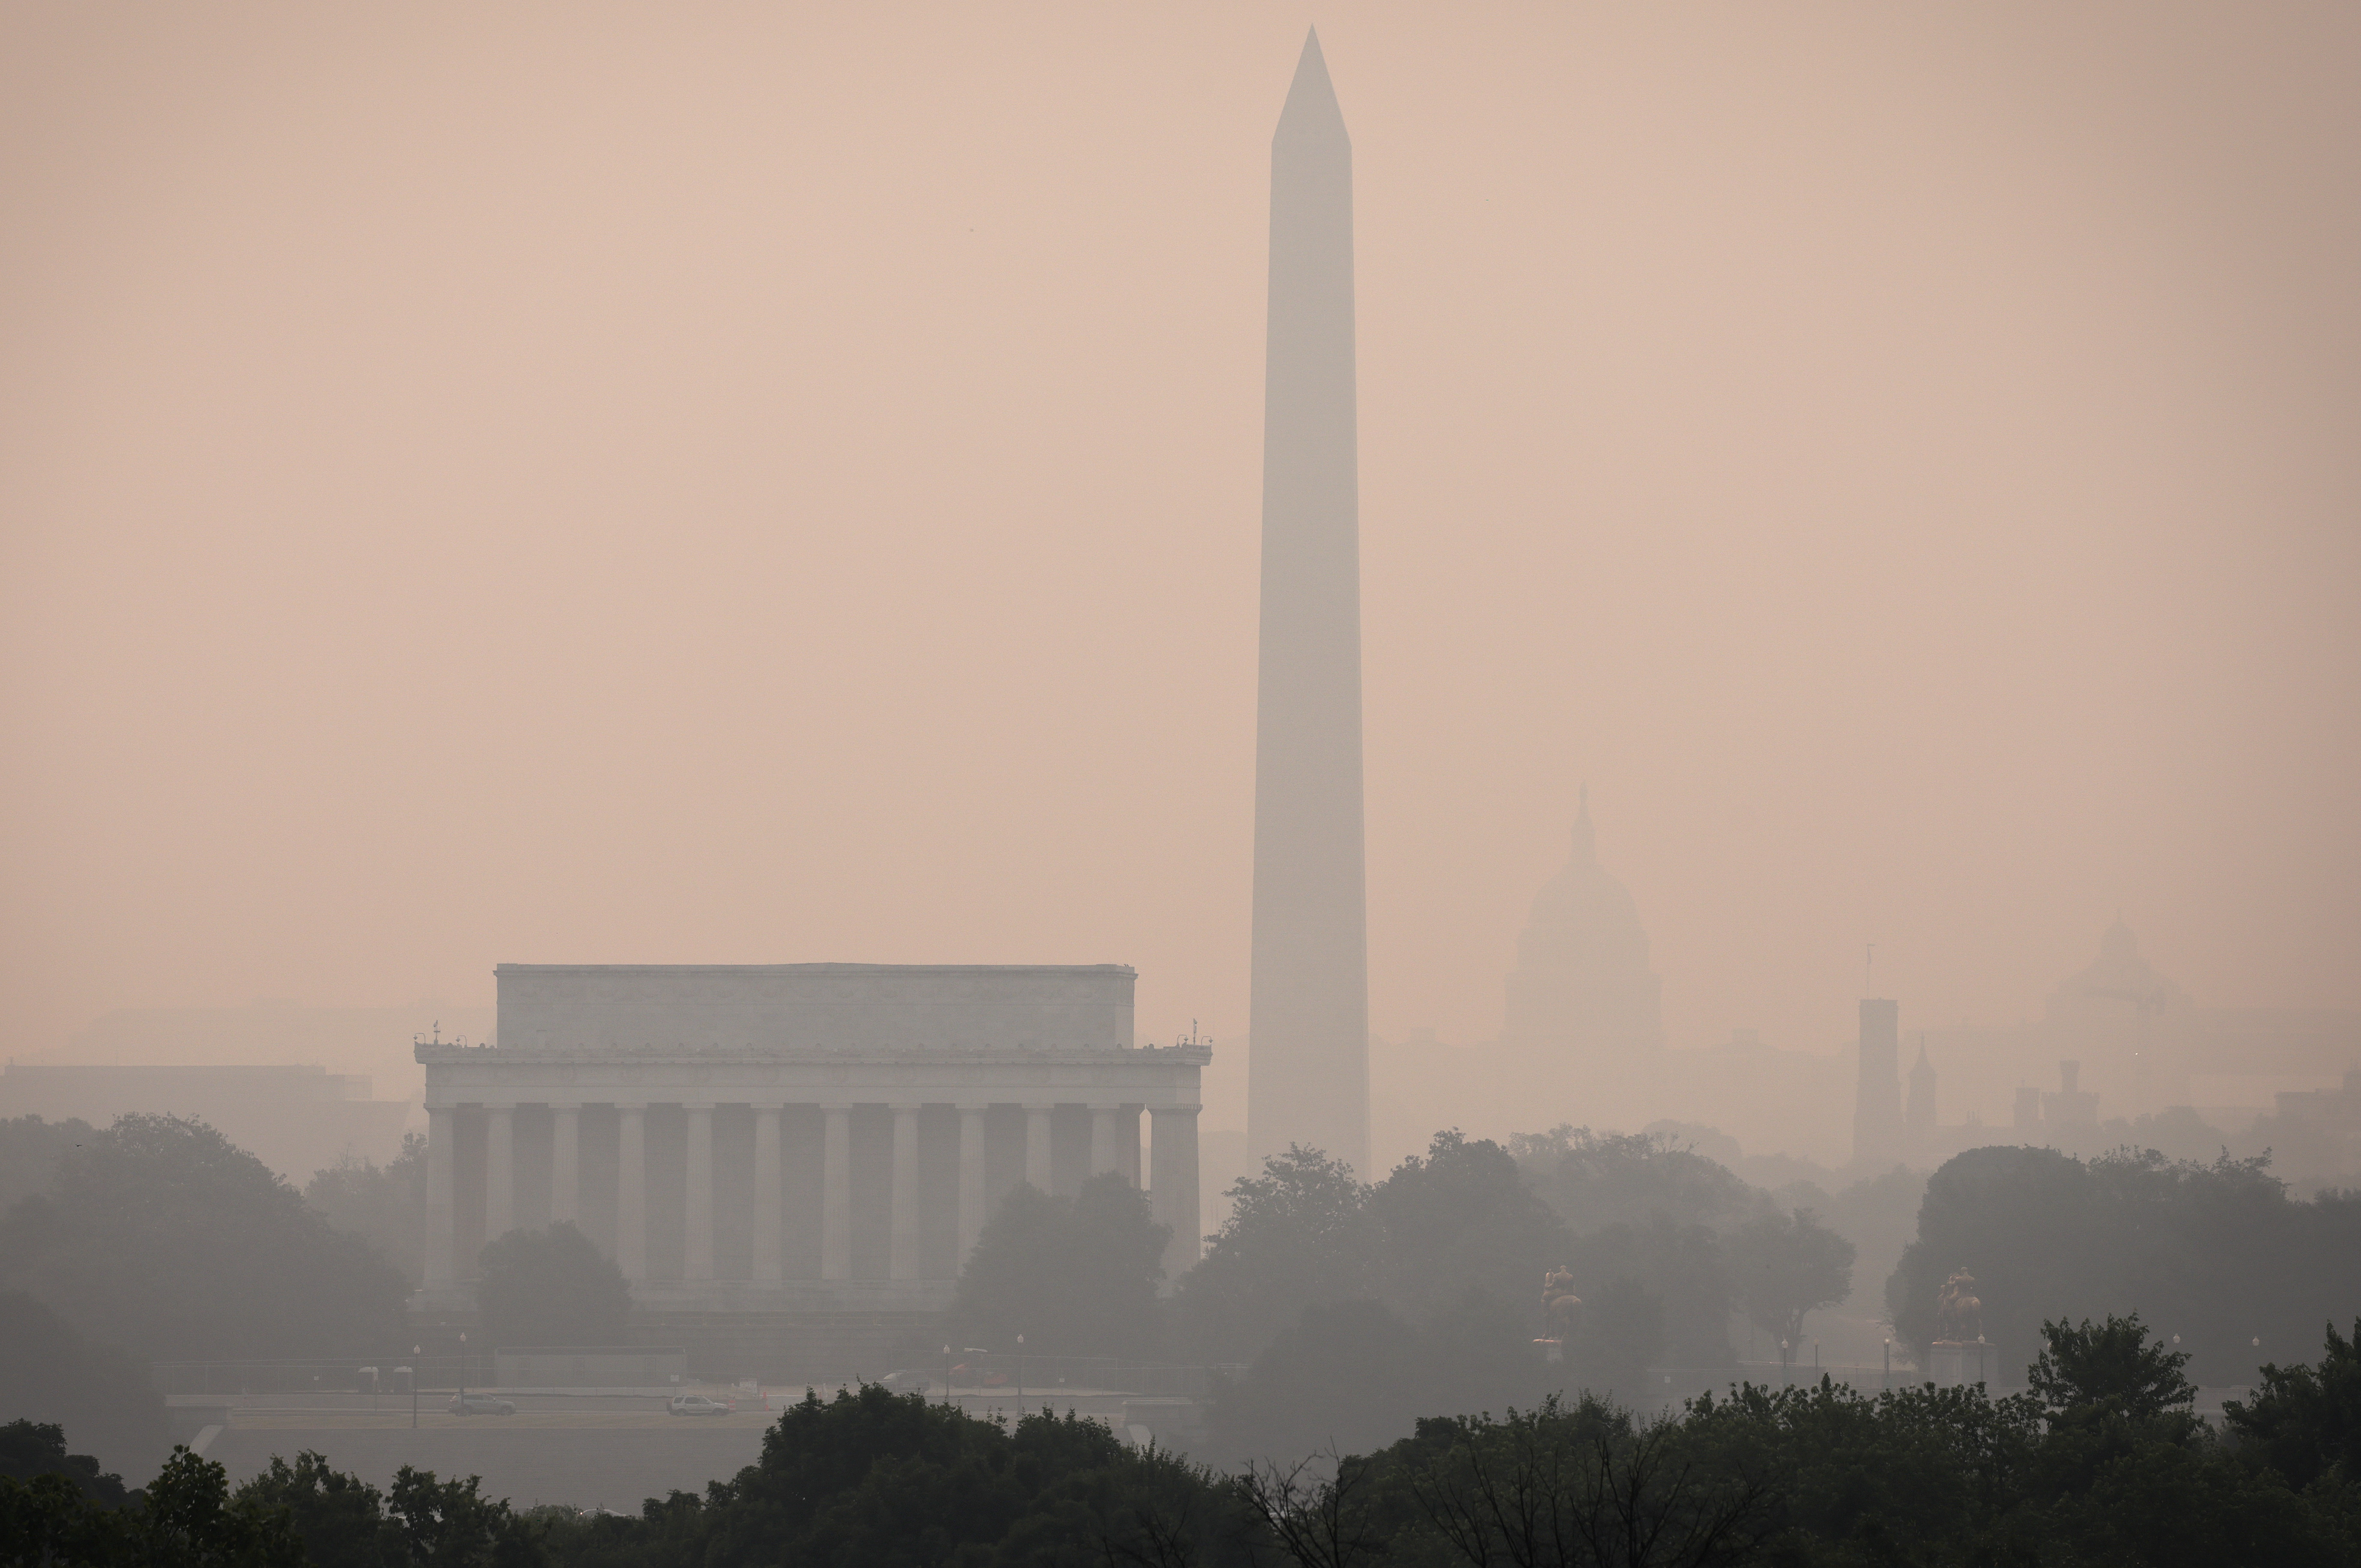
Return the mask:
[[[1381,1235],[1353,1167],[1289,1145],[1228,1197],[1230,1216],[1173,1296],[1190,1353],[1251,1360],[1303,1308],[1376,1294]]]

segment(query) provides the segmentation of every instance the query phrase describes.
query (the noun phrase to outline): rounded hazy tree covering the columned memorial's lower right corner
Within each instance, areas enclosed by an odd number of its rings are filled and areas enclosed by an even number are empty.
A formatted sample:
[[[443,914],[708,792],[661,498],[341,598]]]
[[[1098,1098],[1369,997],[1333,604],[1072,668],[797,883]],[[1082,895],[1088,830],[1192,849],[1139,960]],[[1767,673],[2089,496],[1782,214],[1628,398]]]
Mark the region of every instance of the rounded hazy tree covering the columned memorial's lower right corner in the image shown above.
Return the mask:
[[[1155,1355],[1169,1235],[1121,1176],[1091,1176],[1074,1197],[1020,1185],[959,1275],[954,1329],[992,1348],[1025,1334],[1044,1355]]]

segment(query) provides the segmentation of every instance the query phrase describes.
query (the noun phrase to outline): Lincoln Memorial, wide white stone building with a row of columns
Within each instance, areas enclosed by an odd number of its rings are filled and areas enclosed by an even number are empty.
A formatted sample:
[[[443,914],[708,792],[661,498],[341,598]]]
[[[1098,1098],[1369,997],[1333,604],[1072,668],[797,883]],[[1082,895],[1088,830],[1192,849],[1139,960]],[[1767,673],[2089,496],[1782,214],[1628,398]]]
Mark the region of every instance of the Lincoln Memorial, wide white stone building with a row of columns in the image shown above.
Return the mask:
[[[475,1256],[571,1221],[640,1308],[930,1313],[1020,1181],[1143,1178],[1197,1261],[1197,1077],[1133,1046],[1096,966],[503,963],[489,1046],[420,1044],[423,1311]],[[1145,1119],[1145,1126],[1143,1126]]]

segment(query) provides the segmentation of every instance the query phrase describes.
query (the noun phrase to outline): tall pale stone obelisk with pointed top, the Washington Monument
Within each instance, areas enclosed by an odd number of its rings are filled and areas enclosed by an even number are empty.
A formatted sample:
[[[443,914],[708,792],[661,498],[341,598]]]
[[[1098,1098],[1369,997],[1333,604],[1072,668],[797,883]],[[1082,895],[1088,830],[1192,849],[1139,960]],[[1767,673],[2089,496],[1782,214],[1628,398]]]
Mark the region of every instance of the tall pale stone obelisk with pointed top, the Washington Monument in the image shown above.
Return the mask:
[[[1367,1181],[1358,472],[1353,142],[1313,33],[1270,139],[1247,1145],[1320,1148]]]

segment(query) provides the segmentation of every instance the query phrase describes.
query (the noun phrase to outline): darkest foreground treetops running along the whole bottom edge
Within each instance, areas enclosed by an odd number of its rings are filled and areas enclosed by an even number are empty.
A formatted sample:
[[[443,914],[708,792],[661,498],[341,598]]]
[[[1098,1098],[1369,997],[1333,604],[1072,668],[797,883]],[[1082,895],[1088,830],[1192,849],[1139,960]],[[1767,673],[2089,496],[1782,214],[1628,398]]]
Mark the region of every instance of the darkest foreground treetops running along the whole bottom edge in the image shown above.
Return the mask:
[[[2267,1365],[2222,1429],[2139,1318],[2045,1322],[2028,1391],[1735,1386],[1643,1419],[1596,1396],[1438,1415],[1372,1452],[1216,1471],[1105,1426],[968,1417],[878,1386],[817,1393],[763,1457],[637,1516],[512,1511],[321,1455],[229,1488],[177,1450],[144,1492],[0,1429],[9,1563],[1143,1563],[1152,1568],[1745,1568],[2361,1561],[2361,1320]]]

